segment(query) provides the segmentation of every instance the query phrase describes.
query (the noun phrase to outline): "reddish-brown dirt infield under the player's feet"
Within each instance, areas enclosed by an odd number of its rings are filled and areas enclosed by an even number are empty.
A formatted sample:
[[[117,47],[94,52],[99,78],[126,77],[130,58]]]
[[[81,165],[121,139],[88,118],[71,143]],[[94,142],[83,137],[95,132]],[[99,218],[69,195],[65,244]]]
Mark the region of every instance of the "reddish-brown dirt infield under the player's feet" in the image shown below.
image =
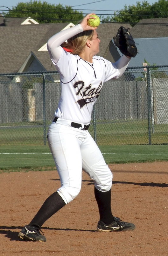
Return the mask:
[[[46,243],[25,242],[18,232],[59,186],[56,171],[0,174],[0,256],[167,256],[168,162],[111,164],[112,211],[133,231],[97,232],[94,185],[83,172],[82,189],[43,225]]]

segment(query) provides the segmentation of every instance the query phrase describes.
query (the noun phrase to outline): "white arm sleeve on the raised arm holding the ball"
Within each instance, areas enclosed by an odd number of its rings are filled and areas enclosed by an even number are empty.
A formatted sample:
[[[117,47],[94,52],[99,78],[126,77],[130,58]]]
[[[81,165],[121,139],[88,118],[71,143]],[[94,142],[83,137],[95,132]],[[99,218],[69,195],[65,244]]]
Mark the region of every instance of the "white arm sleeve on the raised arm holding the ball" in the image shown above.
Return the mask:
[[[67,39],[79,34],[80,32],[83,32],[83,28],[81,24],[78,24],[72,28],[61,30],[59,33],[55,34],[48,40],[47,49],[53,64],[57,64],[62,54],[62,47],[60,45]]]

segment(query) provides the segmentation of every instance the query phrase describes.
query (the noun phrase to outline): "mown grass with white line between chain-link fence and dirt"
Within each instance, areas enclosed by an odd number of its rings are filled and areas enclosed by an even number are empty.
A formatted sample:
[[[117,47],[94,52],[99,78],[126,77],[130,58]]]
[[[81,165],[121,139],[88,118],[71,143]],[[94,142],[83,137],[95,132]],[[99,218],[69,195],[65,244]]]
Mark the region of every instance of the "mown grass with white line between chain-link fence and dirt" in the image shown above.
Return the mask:
[[[100,146],[107,164],[168,161],[167,145]],[[55,169],[48,146],[3,146],[0,147],[0,170],[42,171]]]

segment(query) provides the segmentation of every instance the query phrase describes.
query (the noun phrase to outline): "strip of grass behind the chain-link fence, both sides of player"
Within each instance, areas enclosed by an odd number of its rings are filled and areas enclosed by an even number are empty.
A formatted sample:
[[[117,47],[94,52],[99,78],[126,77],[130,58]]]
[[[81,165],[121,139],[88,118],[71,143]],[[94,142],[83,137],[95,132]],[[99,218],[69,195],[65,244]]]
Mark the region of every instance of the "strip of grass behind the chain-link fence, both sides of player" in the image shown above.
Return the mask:
[[[46,124],[46,131],[50,122]],[[0,124],[0,146],[44,145],[41,122]],[[94,137],[93,124],[89,128]],[[46,137],[45,137],[46,138]],[[149,144],[148,120],[96,121],[96,142],[99,146]],[[151,144],[168,145],[168,124],[155,124],[151,129]]]

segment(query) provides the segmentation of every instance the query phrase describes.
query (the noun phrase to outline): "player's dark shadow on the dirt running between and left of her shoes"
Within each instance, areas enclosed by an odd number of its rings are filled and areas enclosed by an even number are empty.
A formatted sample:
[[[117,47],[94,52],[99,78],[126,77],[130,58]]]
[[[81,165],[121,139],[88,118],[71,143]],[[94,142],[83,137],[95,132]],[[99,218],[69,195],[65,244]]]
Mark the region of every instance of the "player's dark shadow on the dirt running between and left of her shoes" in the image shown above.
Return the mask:
[[[10,241],[20,241],[25,242],[25,240],[20,239],[18,237],[18,231],[11,231],[10,229],[19,229],[21,230],[23,227],[16,227],[16,226],[0,226],[0,234],[4,234],[6,237],[10,239]],[[75,228],[49,228],[49,227],[42,227],[42,229],[49,229],[49,230],[62,230],[62,231],[85,231],[85,232],[96,232],[96,230],[91,229],[75,229]]]

